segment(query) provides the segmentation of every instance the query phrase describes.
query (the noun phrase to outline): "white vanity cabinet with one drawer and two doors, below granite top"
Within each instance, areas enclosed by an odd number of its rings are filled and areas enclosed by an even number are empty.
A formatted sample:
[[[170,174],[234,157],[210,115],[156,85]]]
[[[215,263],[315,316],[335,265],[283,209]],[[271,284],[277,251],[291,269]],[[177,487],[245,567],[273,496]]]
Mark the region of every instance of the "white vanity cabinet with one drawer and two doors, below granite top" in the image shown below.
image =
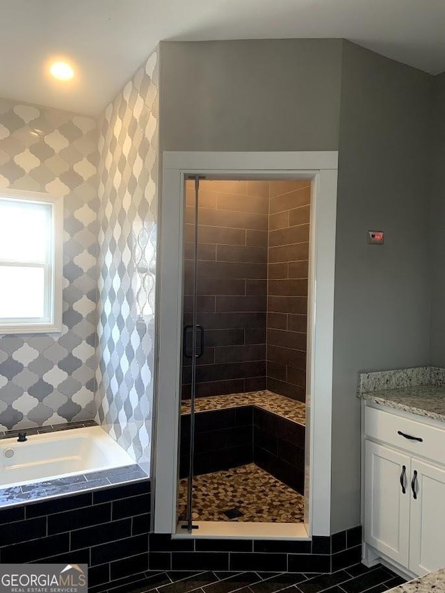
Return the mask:
[[[423,420],[364,407],[364,542],[419,576],[445,567],[445,425]]]

